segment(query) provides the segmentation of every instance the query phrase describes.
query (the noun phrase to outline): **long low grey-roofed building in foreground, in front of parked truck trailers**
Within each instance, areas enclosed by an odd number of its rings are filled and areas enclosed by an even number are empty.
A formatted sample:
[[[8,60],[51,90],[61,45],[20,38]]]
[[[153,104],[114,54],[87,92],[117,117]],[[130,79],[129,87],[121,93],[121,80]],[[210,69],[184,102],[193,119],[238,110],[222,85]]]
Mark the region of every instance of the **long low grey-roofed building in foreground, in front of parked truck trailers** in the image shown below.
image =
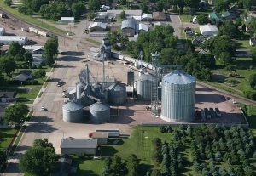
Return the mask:
[[[95,155],[97,139],[61,139],[61,154]]]

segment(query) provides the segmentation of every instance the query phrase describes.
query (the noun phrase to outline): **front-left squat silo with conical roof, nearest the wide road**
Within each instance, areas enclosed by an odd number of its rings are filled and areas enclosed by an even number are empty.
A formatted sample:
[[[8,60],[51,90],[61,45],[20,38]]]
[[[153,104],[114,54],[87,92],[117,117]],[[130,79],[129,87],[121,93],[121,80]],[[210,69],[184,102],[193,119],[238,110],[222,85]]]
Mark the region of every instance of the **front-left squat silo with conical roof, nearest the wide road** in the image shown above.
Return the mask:
[[[64,122],[81,122],[83,120],[83,106],[73,101],[62,106]]]

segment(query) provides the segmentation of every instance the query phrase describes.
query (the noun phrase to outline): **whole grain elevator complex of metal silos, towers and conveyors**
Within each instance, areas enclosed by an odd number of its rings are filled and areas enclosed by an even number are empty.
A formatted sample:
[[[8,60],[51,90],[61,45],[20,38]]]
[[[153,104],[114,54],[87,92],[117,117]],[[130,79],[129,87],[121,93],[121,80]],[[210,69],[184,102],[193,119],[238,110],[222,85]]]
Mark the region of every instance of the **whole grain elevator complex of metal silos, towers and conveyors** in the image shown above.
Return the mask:
[[[161,65],[131,60],[127,84],[106,76],[110,59],[108,39],[102,40],[94,62],[101,63],[102,79],[95,79],[90,65],[80,71],[79,82],[69,91],[69,102],[62,106],[64,122],[111,122],[113,111],[127,104],[127,99],[142,101],[151,116],[166,122],[191,122],[195,118],[195,77],[171,65],[174,71],[162,72]],[[154,60],[159,55],[153,54]],[[131,65],[132,64],[132,65]],[[144,66],[147,65],[147,66]],[[129,94],[131,93],[131,94]],[[127,95],[130,95],[127,97]],[[151,105],[148,103],[151,102]]]

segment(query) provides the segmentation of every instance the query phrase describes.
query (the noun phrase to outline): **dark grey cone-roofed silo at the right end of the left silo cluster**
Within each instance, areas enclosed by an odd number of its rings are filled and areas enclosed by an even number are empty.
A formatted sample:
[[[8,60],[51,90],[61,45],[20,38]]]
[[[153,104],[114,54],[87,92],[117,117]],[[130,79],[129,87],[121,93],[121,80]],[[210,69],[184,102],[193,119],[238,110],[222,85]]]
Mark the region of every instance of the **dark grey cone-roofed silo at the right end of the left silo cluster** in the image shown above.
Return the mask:
[[[115,82],[108,87],[108,102],[113,105],[122,105],[127,99],[126,87]]]

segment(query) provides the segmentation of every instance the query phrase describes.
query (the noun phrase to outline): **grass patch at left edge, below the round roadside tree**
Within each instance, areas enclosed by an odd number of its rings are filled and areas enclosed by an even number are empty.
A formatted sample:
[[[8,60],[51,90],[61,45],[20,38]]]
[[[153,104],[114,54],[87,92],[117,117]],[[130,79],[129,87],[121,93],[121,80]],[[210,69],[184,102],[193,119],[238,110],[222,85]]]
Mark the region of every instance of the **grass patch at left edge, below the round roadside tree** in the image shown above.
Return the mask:
[[[0,150],[5,150],[9,147],[16,131],[17,129],[14,128],[0,129]]]

